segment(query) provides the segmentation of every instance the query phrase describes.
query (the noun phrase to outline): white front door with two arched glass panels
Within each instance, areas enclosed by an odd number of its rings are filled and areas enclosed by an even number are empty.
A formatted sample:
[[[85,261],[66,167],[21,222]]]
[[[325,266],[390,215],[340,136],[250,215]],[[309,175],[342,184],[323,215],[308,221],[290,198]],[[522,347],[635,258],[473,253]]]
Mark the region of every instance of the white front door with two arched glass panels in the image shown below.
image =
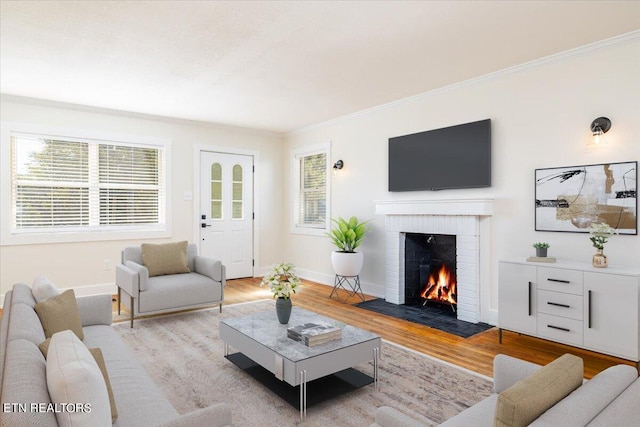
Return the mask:
[[[200,153],[200,254],[253,276],[253,156]]]

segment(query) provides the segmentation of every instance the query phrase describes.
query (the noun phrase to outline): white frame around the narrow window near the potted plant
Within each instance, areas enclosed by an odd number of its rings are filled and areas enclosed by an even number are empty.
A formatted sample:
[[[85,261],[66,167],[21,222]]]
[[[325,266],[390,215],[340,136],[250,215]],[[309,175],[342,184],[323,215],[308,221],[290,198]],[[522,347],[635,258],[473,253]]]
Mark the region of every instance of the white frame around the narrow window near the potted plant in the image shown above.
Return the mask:
[[[316,154],[325,154],[326,156],[326,167],[325,167],[325,175],[326,175],[326,186],[325,186],[325,222],[324,225],[313,226],[313,225],[304,225],[299,224],[298,212],[300,211],[300,159],[303,157],[313,156]],[[290,162],[291,162],[291,233],[294,234],[305,234],[311,236],[326,236],[326,233],[329,232],[329,227],[331,223],[331,174],[330,174],[330,159],[331,159],[331,143],[327,142],[324,144],[313,145],[309,147],[299,148],[295,150],[291,150],[290,153]]]

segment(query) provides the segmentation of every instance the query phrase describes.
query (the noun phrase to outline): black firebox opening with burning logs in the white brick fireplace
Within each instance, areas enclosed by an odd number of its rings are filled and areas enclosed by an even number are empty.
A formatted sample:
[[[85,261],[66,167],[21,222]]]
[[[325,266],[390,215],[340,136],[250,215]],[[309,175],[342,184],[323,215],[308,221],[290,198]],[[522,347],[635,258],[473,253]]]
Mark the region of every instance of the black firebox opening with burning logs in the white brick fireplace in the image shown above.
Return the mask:
[[[456,236],[405,234],[405,305],[449,307],[455,316]]]

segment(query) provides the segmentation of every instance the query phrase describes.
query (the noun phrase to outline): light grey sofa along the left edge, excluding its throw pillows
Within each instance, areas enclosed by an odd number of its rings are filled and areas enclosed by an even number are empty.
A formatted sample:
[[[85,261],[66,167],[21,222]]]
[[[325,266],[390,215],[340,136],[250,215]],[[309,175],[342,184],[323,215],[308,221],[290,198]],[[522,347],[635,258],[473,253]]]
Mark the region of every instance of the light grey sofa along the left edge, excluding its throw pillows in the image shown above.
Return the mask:
[[[180,415],[163,395],[110,326],[112,303],[109,295],[76,299],[83,343],[100,348],[109,374],[120,426],[212,426],[231,424],[231,409],[215,404]],[[31,288],[16,284],[7,292],[0,321],[0,425],[57,426],[56,414],[32,410],[32,404],[52,403],[47,387],[47,361],[38,348],[45,340]],[[24,406],[20,406],[24,405]],[[108,405],[108,402],[107,402]],[[45,406],[41,406],[46,408]],[[26,408],[26,410],[22,410]]]

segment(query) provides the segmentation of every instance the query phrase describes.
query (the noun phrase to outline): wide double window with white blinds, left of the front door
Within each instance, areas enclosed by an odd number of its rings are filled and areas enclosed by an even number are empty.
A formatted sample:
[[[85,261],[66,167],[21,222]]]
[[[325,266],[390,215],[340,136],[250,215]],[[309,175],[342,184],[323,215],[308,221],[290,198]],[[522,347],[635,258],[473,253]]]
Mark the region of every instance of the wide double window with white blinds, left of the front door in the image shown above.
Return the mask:
[[[12,233],[164,227],[163,145],[12,134]]]

